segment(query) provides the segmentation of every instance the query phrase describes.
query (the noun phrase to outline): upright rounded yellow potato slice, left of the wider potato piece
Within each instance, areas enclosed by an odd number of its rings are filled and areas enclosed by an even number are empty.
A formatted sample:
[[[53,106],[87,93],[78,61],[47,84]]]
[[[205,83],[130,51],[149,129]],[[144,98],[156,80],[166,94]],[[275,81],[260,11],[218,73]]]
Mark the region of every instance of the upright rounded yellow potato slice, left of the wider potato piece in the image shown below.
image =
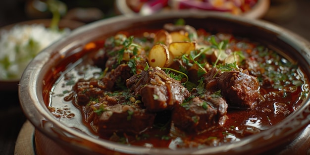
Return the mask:
[[[170,54],[167,46],[163,44],[156,44],[149,53],[149,65],[155,68],[167,67],[170,60]]]

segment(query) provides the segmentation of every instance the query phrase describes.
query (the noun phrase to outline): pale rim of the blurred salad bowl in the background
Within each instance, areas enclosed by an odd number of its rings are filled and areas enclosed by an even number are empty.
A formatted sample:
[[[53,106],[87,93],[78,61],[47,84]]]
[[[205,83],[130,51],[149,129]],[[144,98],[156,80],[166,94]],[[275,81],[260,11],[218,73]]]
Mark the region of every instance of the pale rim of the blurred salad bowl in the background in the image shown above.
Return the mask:
[[[137,12],[134,12],[131,8],[128,7],[126,0],[115,0],[115,9],[119,14],[126,16],[140,15]],[[247,12],[244,12],[237,16],[248,17],[248,18],[261,18],[265,15],[270,7],[270,0],[258,0],[256,5]],[[183,11],[183,10],[178,10]],[[203,11],[203,10],[202,10]],[[216,12],[216,11],[207,11],[206,12]],[[229,14],[228,12],[219,12],[223,14]]]

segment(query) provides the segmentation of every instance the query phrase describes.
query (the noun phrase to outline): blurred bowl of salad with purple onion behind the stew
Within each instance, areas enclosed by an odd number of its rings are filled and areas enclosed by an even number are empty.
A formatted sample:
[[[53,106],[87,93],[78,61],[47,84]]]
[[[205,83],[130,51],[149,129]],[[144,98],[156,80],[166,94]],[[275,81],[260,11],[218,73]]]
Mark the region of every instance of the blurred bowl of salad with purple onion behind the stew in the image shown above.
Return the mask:
[[[116,10],[125,15],[197,9],[260,18],[267,12],[269,5],[270,0],[115,0]]]

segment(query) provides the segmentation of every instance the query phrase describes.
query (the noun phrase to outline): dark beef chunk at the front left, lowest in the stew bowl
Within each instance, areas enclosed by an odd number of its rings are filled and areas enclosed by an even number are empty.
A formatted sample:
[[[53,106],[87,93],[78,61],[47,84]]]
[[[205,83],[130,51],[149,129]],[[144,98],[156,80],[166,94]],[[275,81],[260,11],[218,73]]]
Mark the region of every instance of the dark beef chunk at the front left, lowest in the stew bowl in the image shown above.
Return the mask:
[[[113,133],[141,134],[153,126],[155,113],[143,109],[139,104],[106,105],[100,116],[96,116],[93,127],[102,137]]]

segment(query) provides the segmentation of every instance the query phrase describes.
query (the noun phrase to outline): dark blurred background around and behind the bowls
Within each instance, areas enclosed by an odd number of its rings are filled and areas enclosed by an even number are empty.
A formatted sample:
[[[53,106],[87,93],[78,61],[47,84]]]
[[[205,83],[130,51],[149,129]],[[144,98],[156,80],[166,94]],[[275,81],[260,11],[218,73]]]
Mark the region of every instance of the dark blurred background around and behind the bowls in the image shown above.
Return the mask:
[[[60,0],[67,7],[62,18],[85,24],[119,15],[114,0]],[[0,27],[21,21],[52,18],[44,0],[0,0]],[[310,41],[310,0],[270,0],[260,17]],[[17,92],[0,92],[0,155],[14,155],[18,133],[26,121]]]

